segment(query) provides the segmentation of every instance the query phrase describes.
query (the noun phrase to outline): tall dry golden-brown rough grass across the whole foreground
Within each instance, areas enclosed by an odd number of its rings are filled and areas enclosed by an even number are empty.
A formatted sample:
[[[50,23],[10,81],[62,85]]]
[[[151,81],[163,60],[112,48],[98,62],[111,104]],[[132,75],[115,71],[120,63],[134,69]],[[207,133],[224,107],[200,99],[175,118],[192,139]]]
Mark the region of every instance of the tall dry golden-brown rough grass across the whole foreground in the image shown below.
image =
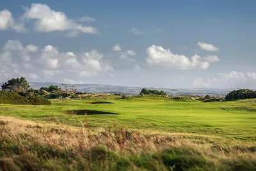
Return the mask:
[[[256,146],[207,135],[0,116],[2,170],[255,170]]]

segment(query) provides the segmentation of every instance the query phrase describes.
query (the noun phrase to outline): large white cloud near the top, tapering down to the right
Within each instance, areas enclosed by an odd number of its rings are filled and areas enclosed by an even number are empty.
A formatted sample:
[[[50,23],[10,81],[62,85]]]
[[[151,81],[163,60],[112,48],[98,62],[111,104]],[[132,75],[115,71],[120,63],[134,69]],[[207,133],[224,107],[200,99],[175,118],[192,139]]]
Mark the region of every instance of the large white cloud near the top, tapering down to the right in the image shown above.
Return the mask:
[[[65,13],[54,11],[47,4],[31,4],[26,8],[23,19],[36,20],[35,29],[38,32],[72,31],[73,36],[79,33],[99,34],[97,28],[92,26],[81,26],[72,19],[68,19]]]

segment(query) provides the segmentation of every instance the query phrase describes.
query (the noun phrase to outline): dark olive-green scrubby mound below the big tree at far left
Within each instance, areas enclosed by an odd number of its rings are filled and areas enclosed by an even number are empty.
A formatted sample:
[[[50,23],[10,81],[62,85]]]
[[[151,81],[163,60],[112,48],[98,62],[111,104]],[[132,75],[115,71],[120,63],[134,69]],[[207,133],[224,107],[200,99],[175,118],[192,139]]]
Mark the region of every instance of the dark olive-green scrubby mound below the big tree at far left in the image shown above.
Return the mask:
[[[20,96],[18,93],[0,91],[0,104],[11,105],[51,105],[51,101],[42,96]]]

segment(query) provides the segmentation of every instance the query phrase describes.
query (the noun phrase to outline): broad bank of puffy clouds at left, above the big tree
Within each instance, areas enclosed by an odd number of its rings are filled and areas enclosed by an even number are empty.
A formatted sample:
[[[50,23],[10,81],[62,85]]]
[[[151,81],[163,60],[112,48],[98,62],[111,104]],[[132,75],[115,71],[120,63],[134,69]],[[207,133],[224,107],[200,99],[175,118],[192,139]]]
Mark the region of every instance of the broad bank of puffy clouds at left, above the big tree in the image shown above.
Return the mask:
[[[15,75],[24,75],[31,79],[38,78],[38,75],[51,78],[67,72],[90,77],[113,70],[108,61],[104,60],[104,54],[97,50],[76,55],[70,51],[61,52],[52,45],[38,49],[36,45],[29,44],[23,48],[22,43],[13,40],[7,41],[3,52],[0,52],[0,63],[0,78]]]

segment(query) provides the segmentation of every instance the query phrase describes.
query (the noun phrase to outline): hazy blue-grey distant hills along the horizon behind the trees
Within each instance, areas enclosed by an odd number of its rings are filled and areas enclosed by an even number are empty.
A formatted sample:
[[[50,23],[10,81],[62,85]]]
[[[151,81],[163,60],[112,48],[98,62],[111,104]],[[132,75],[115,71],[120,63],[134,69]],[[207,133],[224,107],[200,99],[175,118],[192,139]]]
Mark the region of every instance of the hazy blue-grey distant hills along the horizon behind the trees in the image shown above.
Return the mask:
[[[1,85],[3,83],[0,83]],[[40,89],[40,87],[48,87],[49,85],[58,85],[62,87],[60,83],[56,82],[29,82],[29,85],[33,89]],[[109,93],[109,94],[140,94],[143,87],[129,87],[129,86],[119,86],[119,85],[104,85],[104,84],[74,84],[77,87],[77,91],[86,93]],[[148,89],[157,89],[159,91],[163,90],[169,95],[220,95],[220,93],[227,94],[233,89],[168,89],[168,88],[154,88],[148,87]]]

